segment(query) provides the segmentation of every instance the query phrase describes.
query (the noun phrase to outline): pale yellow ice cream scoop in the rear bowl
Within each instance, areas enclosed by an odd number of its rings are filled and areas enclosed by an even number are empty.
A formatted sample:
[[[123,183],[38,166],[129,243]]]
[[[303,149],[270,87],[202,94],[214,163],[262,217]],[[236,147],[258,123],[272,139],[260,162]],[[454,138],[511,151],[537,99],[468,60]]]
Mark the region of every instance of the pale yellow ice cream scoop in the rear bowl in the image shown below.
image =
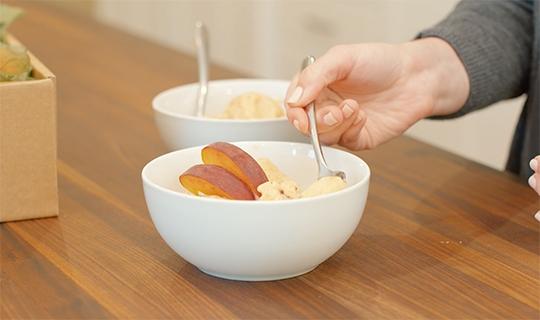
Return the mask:
[[[218,118],[266,119],[283,116],[284,112],[279,101],[260,93],[248,92],[232,99]]]

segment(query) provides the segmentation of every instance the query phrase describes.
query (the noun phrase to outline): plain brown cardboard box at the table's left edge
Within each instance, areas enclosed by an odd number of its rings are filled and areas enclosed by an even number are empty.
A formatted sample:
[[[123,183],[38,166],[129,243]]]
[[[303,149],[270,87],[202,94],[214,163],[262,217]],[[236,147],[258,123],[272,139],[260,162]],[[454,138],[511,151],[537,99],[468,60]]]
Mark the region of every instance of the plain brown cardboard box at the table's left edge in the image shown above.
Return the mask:
[[[58,215],[56,81],[30,58],[34,80],[0,82],[0,222]]]

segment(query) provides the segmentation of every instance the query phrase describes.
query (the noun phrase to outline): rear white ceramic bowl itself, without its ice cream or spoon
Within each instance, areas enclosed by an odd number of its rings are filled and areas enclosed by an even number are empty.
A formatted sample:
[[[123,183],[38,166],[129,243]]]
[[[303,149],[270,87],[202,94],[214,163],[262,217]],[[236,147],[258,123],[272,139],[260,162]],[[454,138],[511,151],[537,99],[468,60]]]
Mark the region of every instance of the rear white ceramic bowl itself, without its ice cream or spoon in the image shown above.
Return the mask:
[[[234,97],[259,92],[283,100],[288,81],[230,79],[210,81],[207,115],[218,115]],[[229,120],[194,116],[198,84],[175,87],[158,94],[152,101],[154,119],[170,150],[210,144],[215,141],[297,141],[307,142],[286,117],[276,119]]]

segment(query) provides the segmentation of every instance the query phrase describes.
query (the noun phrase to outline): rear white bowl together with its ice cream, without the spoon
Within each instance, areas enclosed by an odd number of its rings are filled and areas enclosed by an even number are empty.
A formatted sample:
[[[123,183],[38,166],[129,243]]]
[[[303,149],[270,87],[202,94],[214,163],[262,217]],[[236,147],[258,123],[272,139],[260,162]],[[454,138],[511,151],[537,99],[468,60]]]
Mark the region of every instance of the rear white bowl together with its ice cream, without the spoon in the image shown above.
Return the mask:
[[[153,99],[154,119],[170,150],[215,141],[305,142],[285,117],[288,85],[267,79],[210,81],[203,116],[196,115],[199,84],[174,87]]]

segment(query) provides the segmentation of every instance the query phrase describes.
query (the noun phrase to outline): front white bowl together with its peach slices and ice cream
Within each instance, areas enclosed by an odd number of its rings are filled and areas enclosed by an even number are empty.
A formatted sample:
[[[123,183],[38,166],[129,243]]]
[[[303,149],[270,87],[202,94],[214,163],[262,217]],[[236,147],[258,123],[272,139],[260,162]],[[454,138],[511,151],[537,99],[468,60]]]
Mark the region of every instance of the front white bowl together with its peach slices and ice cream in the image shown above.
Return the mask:
[[[162,155],[142,171],[146,203],[165,242],[201,271],[262,281],[316,268],[355,231],[370,170],[324,148],[347,176],[318,180],[310,144],[211,143]]]

